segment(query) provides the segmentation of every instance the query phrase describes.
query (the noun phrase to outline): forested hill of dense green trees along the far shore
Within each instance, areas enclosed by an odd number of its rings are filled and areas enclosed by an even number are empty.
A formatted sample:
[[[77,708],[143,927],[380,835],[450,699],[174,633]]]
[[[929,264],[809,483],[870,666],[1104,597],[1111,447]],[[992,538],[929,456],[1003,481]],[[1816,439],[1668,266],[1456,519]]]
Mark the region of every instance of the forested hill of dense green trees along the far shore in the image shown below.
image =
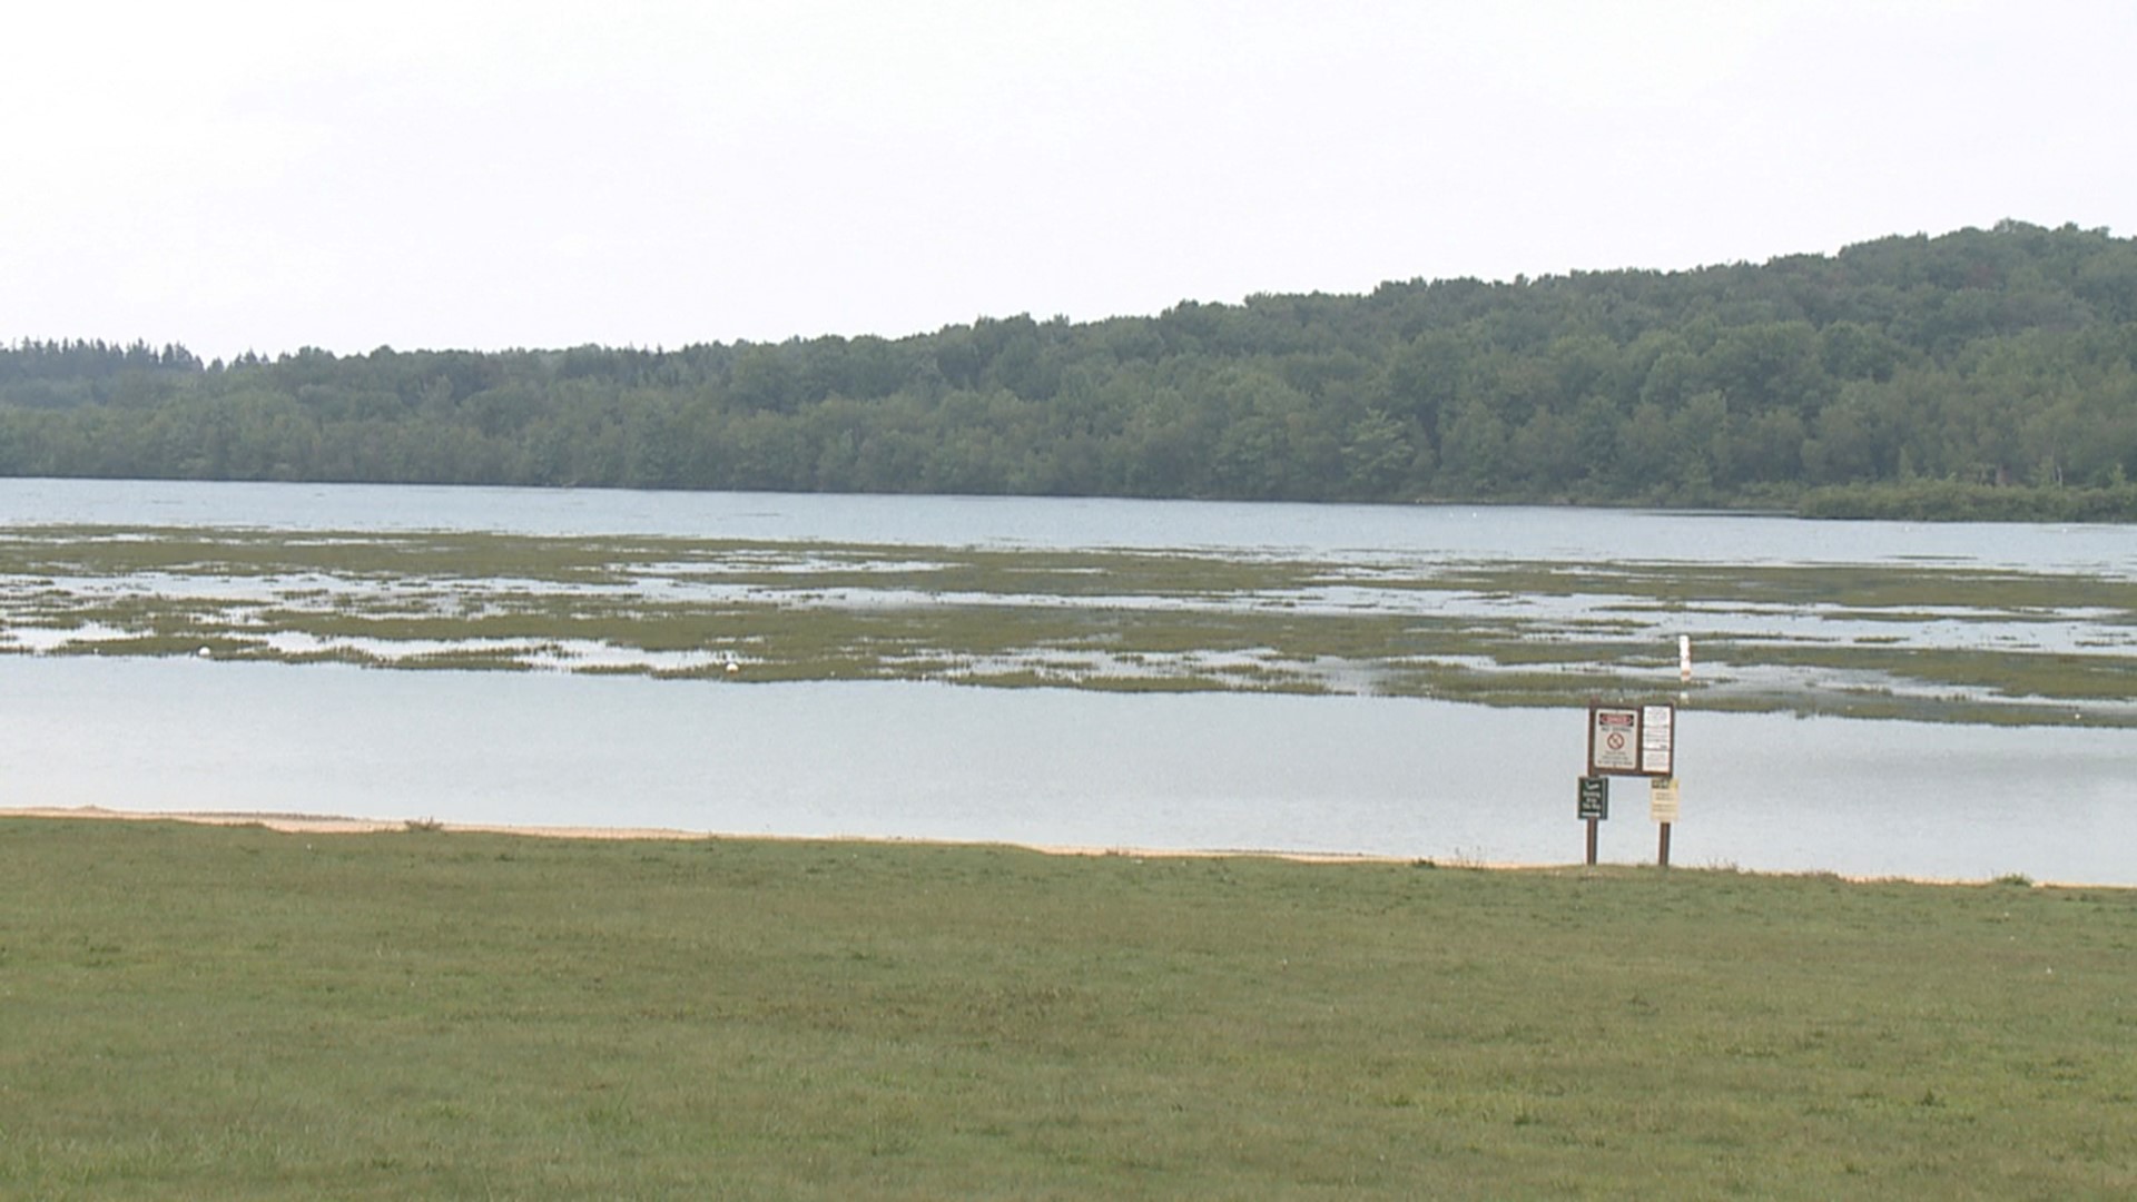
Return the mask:
[[[677,351],[0,346],[0,475],[2137,518],[2137,240]]]

